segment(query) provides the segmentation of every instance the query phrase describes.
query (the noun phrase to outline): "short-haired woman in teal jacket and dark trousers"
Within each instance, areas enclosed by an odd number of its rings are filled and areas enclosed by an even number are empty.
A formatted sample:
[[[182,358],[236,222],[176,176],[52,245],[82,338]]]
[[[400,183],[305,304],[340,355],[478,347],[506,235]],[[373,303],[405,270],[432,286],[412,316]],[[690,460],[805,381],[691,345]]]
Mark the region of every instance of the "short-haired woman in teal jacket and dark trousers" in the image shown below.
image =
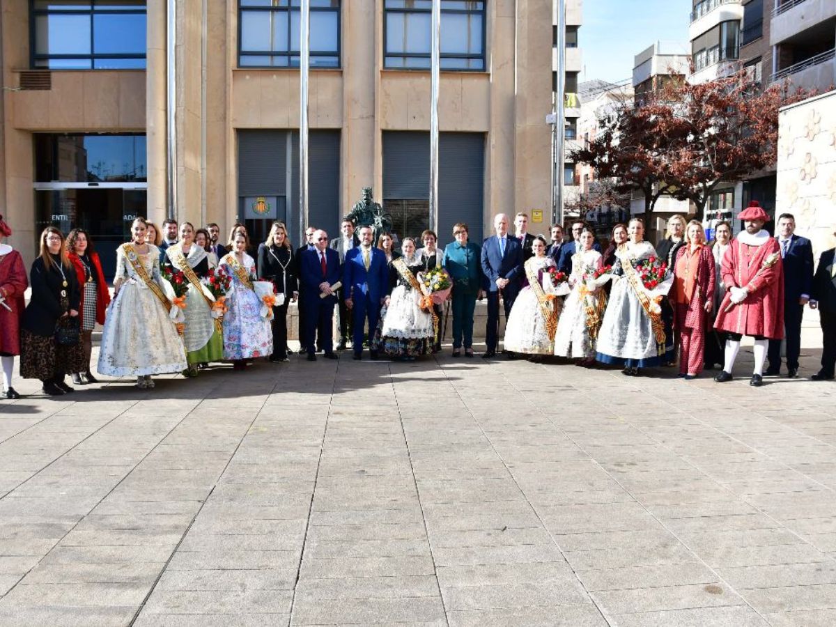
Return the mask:
[[[464,336],[465,357],[473,356],[473,310],[482,294],[482,248],[467,241],[467,225],[453,227],[455,242],[447,244],[441,264],[453,280],[453,357],[461,356]]]

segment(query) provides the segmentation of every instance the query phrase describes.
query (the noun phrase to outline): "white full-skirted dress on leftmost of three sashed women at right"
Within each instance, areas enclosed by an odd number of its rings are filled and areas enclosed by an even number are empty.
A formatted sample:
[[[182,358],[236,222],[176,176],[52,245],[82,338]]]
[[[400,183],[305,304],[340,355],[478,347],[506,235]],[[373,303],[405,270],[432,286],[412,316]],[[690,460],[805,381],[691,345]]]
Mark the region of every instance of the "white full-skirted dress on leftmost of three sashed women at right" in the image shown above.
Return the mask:
[[[555,266],[552,257],[532,257],[525,263],[526,276],[533,275],[537,278],[550,266]],[[541,281],[542,284],[542,281]],[[549,303],[549,307],[561,307],[560,300],[555,299]],[[505,327],[505,349],[512,353],[523,354],[553,354],[554,341],[549,337],[546,329],[546,317],[537,294],[526,285],[517,295],[511,315],[508,316],[508,323]]]

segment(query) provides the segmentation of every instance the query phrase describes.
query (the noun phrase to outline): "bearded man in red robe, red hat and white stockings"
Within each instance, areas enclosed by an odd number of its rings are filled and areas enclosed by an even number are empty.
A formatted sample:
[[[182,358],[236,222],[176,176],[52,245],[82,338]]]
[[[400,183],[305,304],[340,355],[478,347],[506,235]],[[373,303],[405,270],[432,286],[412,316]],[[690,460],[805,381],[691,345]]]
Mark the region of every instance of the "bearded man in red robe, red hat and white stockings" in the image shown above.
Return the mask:
[[[746,230],[732,241],[722,263],[726,296],[714,326],[726,332],[726,365],[714,380],[732,380],[740,341],[749,335],[755,339],[755,372],[749,384],[759,387],[763,385],[769,340],[783,338],[781,249],[777,240],[763,230],[769,217],[757,201],[749,203],[739,218]]]

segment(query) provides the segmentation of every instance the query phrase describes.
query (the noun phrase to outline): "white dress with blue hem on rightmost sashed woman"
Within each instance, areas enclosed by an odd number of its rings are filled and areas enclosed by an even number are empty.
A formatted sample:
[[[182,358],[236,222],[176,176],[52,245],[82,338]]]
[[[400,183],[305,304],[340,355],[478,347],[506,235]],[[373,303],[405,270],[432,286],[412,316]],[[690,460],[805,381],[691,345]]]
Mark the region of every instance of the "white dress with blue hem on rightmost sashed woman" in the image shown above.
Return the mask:
[[[627,248],[635,261],[655,257],[656,251],[649,242],[628,242]],[[653,334],[650,316],[645,314],[639,298],[624,278],[620,251],[615,252],[614,283],[609,295],[607,311],[598,337],[595,359],[604,364],[619,364],[645,368],[660,364],[659,348]],[[617,278],[616,278],[617,277]]]

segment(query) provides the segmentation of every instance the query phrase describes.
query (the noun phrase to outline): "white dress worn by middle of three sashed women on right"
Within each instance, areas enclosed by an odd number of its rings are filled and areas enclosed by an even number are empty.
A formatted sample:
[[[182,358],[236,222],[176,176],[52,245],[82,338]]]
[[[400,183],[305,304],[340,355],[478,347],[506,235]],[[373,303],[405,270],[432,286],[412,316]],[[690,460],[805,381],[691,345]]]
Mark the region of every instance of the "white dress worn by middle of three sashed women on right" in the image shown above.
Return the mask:
[[[591,359],[595,356],[595,340],[587,327],[587,303],[597,308],[599,298],[606,298],[603,290],[581,295],[584,286],[584,268],[601,268],[604,257],[596,250],[575,253],[572,257],[572,293],[563,303],[558,333],[554,336],[554,354],[558,357]]]

